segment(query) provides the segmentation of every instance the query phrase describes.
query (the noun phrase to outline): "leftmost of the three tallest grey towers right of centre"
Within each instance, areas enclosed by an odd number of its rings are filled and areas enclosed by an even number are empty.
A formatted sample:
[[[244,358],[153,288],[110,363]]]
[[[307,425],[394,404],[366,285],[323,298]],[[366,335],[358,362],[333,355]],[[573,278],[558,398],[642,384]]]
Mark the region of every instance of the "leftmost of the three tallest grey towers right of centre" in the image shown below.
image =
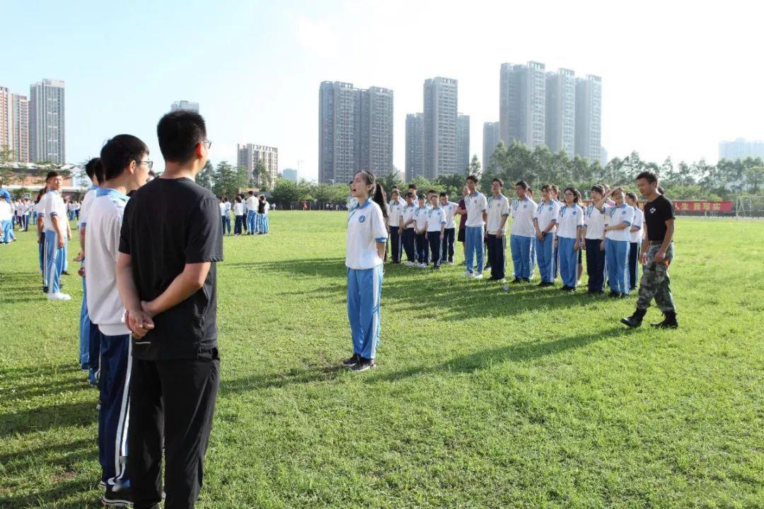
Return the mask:
[[[546,77],[544,64],[501,64],[499,122],[504,144],[518,140],[530,148],[545,143]]]

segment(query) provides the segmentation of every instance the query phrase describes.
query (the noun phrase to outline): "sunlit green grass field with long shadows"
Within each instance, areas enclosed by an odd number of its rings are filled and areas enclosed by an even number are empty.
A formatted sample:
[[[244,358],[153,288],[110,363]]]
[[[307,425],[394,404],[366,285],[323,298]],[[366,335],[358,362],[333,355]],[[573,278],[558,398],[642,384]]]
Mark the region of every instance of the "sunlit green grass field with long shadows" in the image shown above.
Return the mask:
[[[764,222],[678,221],[673,331],[626,330],[633,298],[387,266],[354,374],[345,214],[270,221],[225,239],[198,507],[764,507]],[[44,300],[36,253],[0,246],[0,507],[96,507],[81,283]]]

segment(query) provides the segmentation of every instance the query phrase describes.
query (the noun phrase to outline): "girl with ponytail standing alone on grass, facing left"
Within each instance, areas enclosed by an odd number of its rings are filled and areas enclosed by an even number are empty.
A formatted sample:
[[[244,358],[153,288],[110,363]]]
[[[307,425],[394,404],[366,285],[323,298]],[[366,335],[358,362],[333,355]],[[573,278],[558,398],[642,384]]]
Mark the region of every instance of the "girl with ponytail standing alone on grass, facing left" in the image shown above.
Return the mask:
[[[383,259],[387,245],[384,215],[372,196],[378,191],[377,179],[361,171],[353,177],[351,193],[358,204],[348,212],[348,321],[353,339],[353,355],[342,362],[354,372],[376,366],[380,341],[380,299]]]

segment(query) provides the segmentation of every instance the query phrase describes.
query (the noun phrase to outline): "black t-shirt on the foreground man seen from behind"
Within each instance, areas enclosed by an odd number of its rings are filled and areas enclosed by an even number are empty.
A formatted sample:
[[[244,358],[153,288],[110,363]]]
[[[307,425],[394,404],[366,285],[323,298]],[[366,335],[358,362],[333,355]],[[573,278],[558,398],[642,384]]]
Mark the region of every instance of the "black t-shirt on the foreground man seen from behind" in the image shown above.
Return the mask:
[[[151,301],[186,263],[212,262],[204,286],[154,317],[154,330],[133,341],[137,359],[193,359],[218,346],[215,262],[223,259],[218,200],[190,179],[154,179],[125,207],[119,251],[132,258],[138,295]]]

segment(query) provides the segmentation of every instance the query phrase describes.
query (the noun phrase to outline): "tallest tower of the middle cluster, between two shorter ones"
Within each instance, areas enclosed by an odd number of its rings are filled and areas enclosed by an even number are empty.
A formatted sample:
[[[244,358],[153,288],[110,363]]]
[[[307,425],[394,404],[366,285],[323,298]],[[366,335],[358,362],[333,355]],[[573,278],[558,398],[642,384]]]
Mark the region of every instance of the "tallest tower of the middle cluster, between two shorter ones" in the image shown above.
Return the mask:
[[[458,82],[450,78],[424,83],[425,176],[435,179],[458,173],[456,118]]]

